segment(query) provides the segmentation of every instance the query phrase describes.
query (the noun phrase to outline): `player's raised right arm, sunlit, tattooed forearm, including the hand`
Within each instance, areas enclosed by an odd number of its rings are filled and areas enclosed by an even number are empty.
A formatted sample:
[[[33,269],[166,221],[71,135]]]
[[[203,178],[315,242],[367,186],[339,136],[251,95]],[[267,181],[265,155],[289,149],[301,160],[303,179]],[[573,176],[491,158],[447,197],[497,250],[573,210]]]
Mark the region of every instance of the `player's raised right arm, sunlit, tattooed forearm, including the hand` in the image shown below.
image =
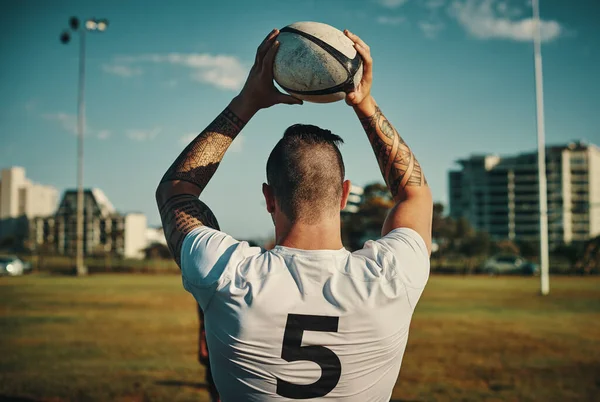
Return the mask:
[[[431,190],[412,150],[371,96],[373,60],[369,47],[358,36],[348,31],[345,33],[363,58],[363,78],[357,90],[348,94],[346,102],[360,119],[383,179],[396,202],[383,224],[382,235],[400,227],[413,229],[425,240],[431,252]]]

